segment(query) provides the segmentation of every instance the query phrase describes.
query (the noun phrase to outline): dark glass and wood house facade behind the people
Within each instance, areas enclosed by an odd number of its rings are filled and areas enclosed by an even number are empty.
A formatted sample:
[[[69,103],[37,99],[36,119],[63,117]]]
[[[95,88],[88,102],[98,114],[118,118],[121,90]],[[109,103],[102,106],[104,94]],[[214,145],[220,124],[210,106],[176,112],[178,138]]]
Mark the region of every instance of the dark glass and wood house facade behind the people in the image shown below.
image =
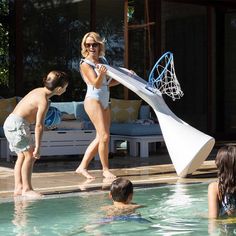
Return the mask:
[[[234,0],[3,0],[0,7],[1,96],[23,96],[49,70],[61,69],[72,79],[57,99],[83,100],[80,42],[97,31],[108,61],[146,80],[171,51],[184,97],[164,97],[168,106],[216,140],[236,138]],[[111,96],[137,98],[121,85]]]

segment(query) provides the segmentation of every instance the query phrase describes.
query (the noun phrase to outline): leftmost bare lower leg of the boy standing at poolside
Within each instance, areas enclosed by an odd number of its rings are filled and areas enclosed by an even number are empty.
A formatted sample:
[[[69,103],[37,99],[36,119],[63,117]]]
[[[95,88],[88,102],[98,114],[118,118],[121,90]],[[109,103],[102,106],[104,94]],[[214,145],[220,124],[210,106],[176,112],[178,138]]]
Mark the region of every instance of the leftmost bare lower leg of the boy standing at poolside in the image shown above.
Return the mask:
[[[17,160],[14,167],[14,179],[15,179],[15,189],[14,196],[22,194],[22,178],[21,178],[21,168],[24,162],[24,154],[18,153]]]

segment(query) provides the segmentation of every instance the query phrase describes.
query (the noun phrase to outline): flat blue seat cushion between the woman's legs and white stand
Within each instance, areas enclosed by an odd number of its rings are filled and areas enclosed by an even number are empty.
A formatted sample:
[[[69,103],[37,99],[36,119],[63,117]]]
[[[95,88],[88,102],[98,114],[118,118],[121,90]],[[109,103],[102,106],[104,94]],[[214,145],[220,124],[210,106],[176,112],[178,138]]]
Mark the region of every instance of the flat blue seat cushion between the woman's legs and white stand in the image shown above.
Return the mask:
[[[159,124],[142,125],[139,123],[116,123],[113,122],[110,128],[111,134],[130,136],[161,135]]]

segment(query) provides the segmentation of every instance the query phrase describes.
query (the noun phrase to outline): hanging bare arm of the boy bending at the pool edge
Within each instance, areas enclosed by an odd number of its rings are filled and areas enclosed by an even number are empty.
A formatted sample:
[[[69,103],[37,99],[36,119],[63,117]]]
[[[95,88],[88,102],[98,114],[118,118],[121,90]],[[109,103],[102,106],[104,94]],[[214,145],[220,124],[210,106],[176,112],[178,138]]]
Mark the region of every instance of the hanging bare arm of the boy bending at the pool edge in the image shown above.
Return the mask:
[[[33,152],[33,156],[36,159],[40,158],[40,144],[43,136],[44,119],[47,110],[48,110],[48,102],[47,101],[41,102],[38,106],[38,111],[36,114],[36,121],[35,121],[35,149]]]

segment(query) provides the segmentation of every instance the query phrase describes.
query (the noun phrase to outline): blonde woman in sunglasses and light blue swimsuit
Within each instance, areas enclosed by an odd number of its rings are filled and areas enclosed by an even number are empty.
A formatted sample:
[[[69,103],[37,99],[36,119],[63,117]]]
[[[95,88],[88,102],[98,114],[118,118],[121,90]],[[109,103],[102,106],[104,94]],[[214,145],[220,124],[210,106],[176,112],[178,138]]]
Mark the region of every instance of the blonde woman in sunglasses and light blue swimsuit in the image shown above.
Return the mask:
[[[84,59],[80,63],[80,73],[87,84],[87,93],[84,100],[84,108],[96,129],[96,137],[88,146],[83,160],[76,173],[82,174],[88,179],[93,179],[87,167],[93,157],[98,153],[103,176],[105,178],[116,178],[109,170],[108,151],[110,138],[110,109],[109,109],[109,87],[117,85],[115,80],[108,80],[106,67],[97,64],[104,63],[102,58],[105,54],[104,40],[98,33],[89,32],[85,34],[81,43],[81,54]]]

